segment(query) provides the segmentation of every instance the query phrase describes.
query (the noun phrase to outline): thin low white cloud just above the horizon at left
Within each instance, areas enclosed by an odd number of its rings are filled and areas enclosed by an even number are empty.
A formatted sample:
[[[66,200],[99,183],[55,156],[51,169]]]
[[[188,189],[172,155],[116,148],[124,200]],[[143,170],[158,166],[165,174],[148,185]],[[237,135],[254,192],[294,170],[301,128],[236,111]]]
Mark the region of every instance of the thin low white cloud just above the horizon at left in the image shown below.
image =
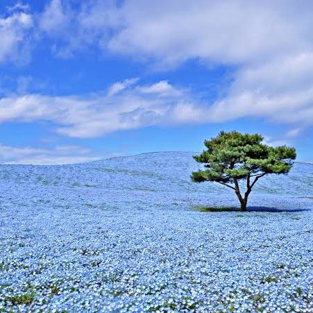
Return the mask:
[[[16,147],[0,144],[0,164],[74,164],[108,158],[115,154],[95,156],[81,146],[56,146],[52,149]]]

